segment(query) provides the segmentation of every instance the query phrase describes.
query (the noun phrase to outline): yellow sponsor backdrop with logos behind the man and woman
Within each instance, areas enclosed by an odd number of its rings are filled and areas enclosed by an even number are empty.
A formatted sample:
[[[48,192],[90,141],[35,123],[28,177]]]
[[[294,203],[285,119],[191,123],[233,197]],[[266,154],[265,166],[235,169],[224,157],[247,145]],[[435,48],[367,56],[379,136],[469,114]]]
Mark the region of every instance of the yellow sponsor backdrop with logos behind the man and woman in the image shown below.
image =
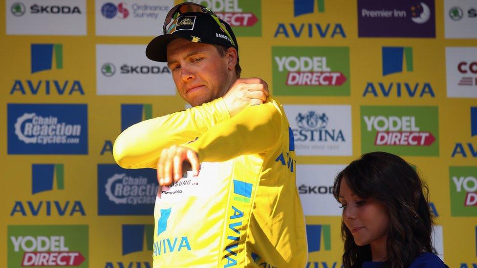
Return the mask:
[[[441,258],[476,267],[475,1],[194,1],[234,27],[242,77],[284,105],[308,268],[341,266],[333,179],[376,150],[429,184]],[[155,171],[120,168],[112,145],[185,106],[144,53],[175,3],[2,1],[0,267],[152,266]]]

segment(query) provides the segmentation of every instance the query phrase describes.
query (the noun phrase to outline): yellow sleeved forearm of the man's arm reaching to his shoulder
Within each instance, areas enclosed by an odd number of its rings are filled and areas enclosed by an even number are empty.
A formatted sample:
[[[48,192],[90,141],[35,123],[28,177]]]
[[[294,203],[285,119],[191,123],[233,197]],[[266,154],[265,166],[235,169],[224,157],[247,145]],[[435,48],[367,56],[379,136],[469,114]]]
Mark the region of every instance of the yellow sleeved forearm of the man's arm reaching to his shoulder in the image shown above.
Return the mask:
[[[124,168],[153,167],[162,149],[184,144],[229,119],[222,98],[134,124],[116,139],[113,155]]]

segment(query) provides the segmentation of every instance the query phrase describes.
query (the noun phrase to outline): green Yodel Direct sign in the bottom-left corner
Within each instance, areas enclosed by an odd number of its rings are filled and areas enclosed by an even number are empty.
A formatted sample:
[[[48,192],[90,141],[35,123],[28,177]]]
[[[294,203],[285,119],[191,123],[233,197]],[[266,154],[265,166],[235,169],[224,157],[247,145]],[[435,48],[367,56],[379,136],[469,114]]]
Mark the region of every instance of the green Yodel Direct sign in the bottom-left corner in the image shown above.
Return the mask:
[[[86,225],[8,226],[8,267],[88,267]]]

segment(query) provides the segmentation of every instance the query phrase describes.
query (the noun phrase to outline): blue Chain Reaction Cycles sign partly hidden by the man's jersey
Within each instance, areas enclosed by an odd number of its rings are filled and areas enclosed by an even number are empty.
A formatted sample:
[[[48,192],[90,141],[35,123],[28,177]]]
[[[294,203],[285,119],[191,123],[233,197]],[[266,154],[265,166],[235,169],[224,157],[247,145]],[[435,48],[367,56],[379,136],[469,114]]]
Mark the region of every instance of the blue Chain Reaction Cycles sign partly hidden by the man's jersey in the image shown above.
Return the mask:
[[[154,210],[157,179],[153,169],[124,169],[98,165],[99,215],[150,215]]]

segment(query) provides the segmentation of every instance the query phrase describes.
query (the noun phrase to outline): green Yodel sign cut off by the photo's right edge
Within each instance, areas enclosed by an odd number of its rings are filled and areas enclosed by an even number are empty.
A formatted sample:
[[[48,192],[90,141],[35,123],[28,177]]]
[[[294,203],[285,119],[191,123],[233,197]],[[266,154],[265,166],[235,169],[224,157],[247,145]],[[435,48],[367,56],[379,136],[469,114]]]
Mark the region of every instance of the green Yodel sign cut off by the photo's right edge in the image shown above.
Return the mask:
[[[450,166],[451,215],[477,216],[477,166]]]

